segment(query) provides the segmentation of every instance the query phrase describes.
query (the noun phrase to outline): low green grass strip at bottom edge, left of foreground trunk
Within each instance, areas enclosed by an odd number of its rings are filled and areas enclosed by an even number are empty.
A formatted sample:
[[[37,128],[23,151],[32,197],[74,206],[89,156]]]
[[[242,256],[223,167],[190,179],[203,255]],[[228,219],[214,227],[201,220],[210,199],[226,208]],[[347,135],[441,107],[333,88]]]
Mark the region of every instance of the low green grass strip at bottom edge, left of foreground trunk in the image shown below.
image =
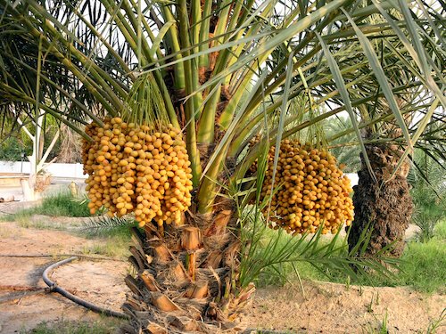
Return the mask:
[[[33,330],[21,330],[21,334],[111,334],[120,326],[119,320],[104,319],[102,322],[42,322]]]

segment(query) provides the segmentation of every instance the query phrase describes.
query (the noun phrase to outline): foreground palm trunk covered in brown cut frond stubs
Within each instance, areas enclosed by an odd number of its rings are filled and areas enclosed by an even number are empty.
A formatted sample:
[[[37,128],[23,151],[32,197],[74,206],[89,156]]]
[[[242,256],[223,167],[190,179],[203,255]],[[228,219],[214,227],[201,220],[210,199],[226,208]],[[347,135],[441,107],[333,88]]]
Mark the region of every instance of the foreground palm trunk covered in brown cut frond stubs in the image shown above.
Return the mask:
[[[194,214],[164,232],[134,229],[130,262],[136,279],[125,311],[129,333],[218,333],[248,302],[254,288],[237,285],[240,241],[233,203],[219,200],[212,214]]]

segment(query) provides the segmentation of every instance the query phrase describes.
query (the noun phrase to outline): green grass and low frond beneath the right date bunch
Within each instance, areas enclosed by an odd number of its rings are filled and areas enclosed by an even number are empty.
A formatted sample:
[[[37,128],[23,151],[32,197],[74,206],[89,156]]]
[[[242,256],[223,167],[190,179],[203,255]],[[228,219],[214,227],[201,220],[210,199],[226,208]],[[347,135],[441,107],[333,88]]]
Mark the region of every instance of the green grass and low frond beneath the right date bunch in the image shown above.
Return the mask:
[[[364,260],[351,258],[340,234],[320,234],[291,237],[278,230],[270,230],[263,222],[246,224],[242,233],[246,256],[242,259],[241,274],[244,281],[254,281],[258,287],[282,285],[297,278],[321,280],[338,271],[356,276],[353,268],[362,268]],[[249,251],[249,254],[247,253]],[[378,271],[384,270],[380,262],[384,257],[368,261]],[[294,275],[294,277],[293,277]]]

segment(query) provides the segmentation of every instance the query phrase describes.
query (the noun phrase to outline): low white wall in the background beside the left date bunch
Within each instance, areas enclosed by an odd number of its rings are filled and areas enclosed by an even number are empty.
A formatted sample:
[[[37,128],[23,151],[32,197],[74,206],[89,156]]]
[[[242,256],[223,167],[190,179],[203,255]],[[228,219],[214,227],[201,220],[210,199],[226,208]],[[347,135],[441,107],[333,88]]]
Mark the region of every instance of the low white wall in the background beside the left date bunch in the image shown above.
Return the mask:
[[[44,169],[54,177],[87,178],[83,174],[82,164],[45,164]],[[31,164],[29,161],[0,161],[0,173],[26,173],[29,174]]]

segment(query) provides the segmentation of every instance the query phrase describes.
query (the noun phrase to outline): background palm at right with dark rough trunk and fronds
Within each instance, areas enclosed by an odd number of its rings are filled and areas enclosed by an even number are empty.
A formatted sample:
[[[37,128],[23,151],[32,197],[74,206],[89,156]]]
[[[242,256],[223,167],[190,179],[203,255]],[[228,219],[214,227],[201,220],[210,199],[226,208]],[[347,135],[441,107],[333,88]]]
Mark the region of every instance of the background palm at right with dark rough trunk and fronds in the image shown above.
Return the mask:
[[[350,248],[354,248],[360,235],[365,230],[370,230],[371,238],[368,244],[368,254],[373,255],[383,248],[392,245],[390,254],[400,257],[404,248],[404,233],[409,227],[412,215],[412,200],[409,194],[409,175],[410,160],[409,155],[413,154],[413,149],[418,143],[413,141],[423,134],[425,127],[444,122],[442,118],[442,109],[435,110],[437,103],[443,102],[442,88],[440,86],[431,86],[432,90],[425,90],[424,86],[418,86],[417,81],[422,80],[425,86],[430,86],[427,81],[432,80],[431,71],[441,75],[442,57],[437,61],[432,61],[430,65],[423,64],[423,57],[413,59],[413,64],[409,69],[401,69],[394,66],[401,59],[401,54],[394,53],[394,45],[389,43],[392,36],[396,34],[399,42],[405,45],[409,53],[426,53],[433,39],[438,38],[442,43],[442,36],[436,35],[435,30],[425,29],[425,22],[415,22],[411,20],[409,7],[398,11],[385,12],[380,4],[374,2],[382,16],[369,17],[368,21],[379,23],[387,22],[393,27],[392,33],[384,32],[388,36],[383,39],[375,40],[375,50],[380,53],[380,62],[382,65],[381,75],[387,77],[389,86],[405,86],[404,90],[394,98],[389,94],[379,96],[377,93],[384,92],[383,79],[379,75],[370,76],[363,80],[357,86],[356,94],[358,97],[366,92],[376,92],[374,102],[366,102],[358,110],[358,117],[363,124],[362,136],[365,144],[367,158],[361,154],[362,166],[359,169],[359,184],[354,187],[353,204],[355,206],[355,223],[352,225],[349,234]],[[436,4],[438,5],[438,4]],[[435,4],[433,4],[435,8]],[[416,11],[416,8],[413,8]],[[431,9],[432,10],[432,9]],[[435,15],[435,12],[433,12]],[[407,20],[409,37],[405,37],[403,29],[398,27],[398,20]],[[424,31],[430,38],[419,38],[420,31]],[[409,45],[409,38],[419,40],[417,45]],[[416,51],[417,50],[417,51]],[[384,53],[392,54],[385,57]],[[363,71],[364,69],[360,69]],[[420,73],[425,71],[425,77]],[[367,72],[363,72],[367,74]],[[409,86],[407,85],[409,84]],[[435,94],[438,94],[434,97]],[[341,101],[340,101],[341,102]],[[388,115],[392,110],[399,110],[401,117],[389,119]],[[417,119],[419,113],[428,114],[432,117],[431,122]],[[379,121],[378,121],[379,120]],[[347,130],[351,133],[351,130]],[[406,134],[404,134],[406,132]],[[411,138],[409,137],[411,135]],[[331,139],[344,137],[345,133],[337,134]],[[406,139],[405,139],[406,137]],[[431,141],[434,144],[434,140]],[[438,151],[438,150],[434,150]],[[410,153],[409,153],[410,152]],[[373,170],[369,173],[368,163]]]

